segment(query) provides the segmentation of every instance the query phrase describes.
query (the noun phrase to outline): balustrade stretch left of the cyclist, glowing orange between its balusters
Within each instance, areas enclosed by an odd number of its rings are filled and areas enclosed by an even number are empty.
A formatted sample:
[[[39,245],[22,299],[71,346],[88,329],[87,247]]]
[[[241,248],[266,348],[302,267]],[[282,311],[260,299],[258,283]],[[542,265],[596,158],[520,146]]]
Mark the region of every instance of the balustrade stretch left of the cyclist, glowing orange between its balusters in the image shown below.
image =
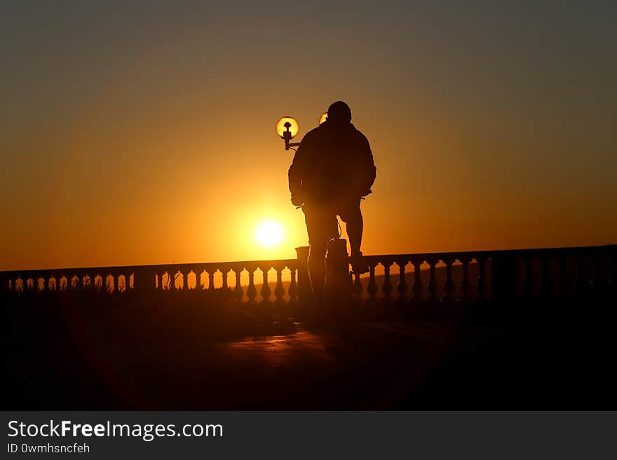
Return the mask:
[[[158,291],[224,291],[238,302],[293,301],[297,298],[297,260],[135,265],[0,272],[3,291],[69,293],[90,291],[122,295]]]

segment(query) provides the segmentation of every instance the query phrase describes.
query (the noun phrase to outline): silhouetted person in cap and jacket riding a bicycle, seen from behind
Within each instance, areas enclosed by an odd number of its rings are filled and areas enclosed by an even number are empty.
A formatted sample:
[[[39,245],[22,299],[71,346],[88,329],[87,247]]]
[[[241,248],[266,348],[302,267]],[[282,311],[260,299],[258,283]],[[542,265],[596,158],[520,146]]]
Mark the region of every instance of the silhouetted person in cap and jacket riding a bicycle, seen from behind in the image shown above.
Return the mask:
[[[301,206],[306,221],[308,275],[313,295],[323,301],[327,244],[339,236],[337,216],[346,222],[355,274],[365,273],[362,262],[360,200],[371,193],[377,169],[369,141],[351,124],[351,109],[334,102],[327,119],[302,139],[289,169],[294,206]]]

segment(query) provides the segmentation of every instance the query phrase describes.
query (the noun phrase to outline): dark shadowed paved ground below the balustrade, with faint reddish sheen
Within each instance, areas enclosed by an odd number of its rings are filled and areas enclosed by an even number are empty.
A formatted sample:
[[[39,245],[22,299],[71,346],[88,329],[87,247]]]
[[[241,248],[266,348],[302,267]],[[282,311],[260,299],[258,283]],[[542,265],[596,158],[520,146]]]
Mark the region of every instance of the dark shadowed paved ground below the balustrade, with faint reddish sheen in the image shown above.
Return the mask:
[[[22,321],[4,335],[3,407],[617,408],[610,318],[604,309],[538,315],[530,307],[499,321],[382,319],[342,332],[295,322],[243,339],[155,318],[164,336],[130,340],[100,319],[96,329],[83,319],[66,329],[41,320],[34,332]]]

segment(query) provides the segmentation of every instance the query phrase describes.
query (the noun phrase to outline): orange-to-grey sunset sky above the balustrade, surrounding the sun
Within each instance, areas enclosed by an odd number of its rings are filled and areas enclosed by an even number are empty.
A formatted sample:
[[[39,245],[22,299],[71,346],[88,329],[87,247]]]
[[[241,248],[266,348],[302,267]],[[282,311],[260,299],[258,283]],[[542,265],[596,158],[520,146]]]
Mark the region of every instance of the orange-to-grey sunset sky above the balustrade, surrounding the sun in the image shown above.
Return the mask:
[[[274,123],[338,99],[365,253],[616,243],[616,2],[407,3],[3,1],[0,270],[295,257]]]

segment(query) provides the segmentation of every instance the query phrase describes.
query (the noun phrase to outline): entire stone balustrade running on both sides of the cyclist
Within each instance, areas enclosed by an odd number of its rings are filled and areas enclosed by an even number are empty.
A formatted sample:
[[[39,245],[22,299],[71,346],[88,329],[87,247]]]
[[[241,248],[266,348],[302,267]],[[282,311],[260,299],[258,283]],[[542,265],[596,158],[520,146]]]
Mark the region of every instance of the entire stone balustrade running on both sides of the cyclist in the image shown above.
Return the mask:
[[[606,295],[614,298],[617,246],[365,256],[356,302],[491,302]],[[5,295],[92,291],[222,291],[235,302],[296,302],[310,295],[306,248],[298,258],[0,272]]]

